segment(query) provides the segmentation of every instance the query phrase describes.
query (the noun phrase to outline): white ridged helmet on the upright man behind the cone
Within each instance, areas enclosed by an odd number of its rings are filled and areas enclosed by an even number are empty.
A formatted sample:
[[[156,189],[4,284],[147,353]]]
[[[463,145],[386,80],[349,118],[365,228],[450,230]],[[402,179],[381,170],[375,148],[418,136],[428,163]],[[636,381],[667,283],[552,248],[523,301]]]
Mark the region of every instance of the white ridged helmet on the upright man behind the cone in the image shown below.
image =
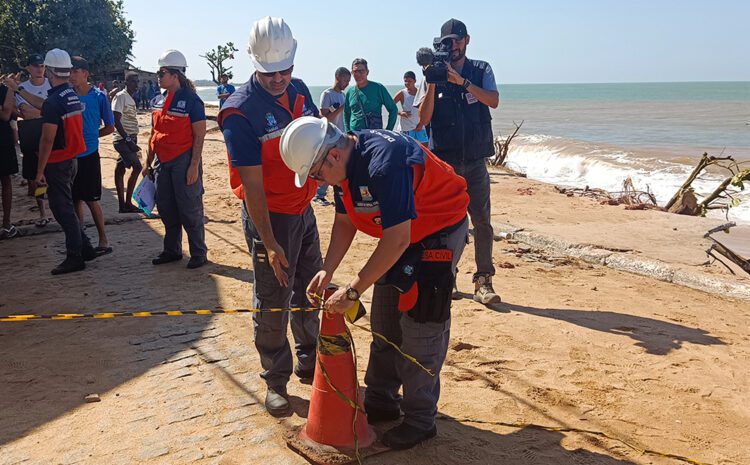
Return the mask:
[[[253,23],[247,53],[255,69],[261,73],[289,69],[294,64],[296,52],[297,41],[283,19],[266,16]]]

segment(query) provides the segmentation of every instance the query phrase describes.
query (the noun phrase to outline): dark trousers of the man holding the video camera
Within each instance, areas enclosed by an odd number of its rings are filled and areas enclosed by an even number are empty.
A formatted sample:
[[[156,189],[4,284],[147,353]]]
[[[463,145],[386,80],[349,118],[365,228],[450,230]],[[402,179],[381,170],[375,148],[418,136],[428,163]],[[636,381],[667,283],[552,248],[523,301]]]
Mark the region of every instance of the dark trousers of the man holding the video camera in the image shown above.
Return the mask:
[[[474,260],[477,271],[474,280],[480,275],[495,275],[492,264],[492,231],[490,208],[490,175],[484,158],[452,164],[456,174],[466,179],[469,192],[469,216],[474,226]]]

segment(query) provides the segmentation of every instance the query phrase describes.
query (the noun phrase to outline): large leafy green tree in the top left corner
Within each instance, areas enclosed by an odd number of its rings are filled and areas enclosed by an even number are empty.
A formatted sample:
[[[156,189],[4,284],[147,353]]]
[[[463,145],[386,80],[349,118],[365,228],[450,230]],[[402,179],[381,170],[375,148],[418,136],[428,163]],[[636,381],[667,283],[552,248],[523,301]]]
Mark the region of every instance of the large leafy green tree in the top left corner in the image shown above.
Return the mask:
[[[134,33],[123,0],[2,0],[0,66],[23,67],[30,53],[61,48],[86,58],[93,74],[131,57]]]

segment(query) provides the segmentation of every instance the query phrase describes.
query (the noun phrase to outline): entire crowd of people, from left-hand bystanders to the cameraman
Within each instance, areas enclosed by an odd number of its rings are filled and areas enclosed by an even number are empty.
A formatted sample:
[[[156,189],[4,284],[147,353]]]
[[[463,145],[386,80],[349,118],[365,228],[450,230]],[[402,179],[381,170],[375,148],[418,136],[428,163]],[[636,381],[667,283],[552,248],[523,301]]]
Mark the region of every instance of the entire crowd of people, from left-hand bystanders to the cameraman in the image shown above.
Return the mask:
[[[312,304],[345,313],[373,287],[373,330],[435,374],[401,358],[387,343],[372,341],[364,406],[371,423],[403,416],[382,438],[393,449],[413,447],[437,434],[439,373],[448,349],[451,301],[457,295],[452,290],[468,242],[469,217],[476,257],[473,298],[483,304],[500,302],[492,285],[485,163],[494,154],[490,108],[499,105],[499,92],[490,65],[466,57],[470,36],[464,23],[447,21],[439,41],[450,49],[445,81],[422,79],[417,85],[415,73],[407,72],[404,89],[391,96],[382,84],[368,79],[368,62],[356,58],[350,68],[335,71],[333,86],[316,106],[307,85],[293,76],[297,41],[291,28],[281,18],[266,17],[251,28],[248,52],[255,70],[247,83],[235,89],[224,75],[216,91],[229,184],[241,200],[239,217],[252,257],[253,306]],[[167,50],[158,66],[162,93],[150,100],[153,127],[144,163],[135,120],[137,75],[125,77],[111,105],[88,84],[86,61],[71,59],[62,50],[29,57],[30,78],[24,83],[4,78],[3,194],[16,156],[15,151],[13,160],[6,155],[6,124],[18,115],[30,192],[46,188],[49,207],[65,231],[67,257],[53,274],[83,269],[85,261],[111,251],[98,205],[98,140],[108,134],[114,134],[119,153],[115,180],[120,211],[135,209],[130,198],[139,174],[156,184],[165,235],[153,264],[183,258],[183,229],[188,268],[207,262],[204,105],[186,77],[182,53]],[[350,87],[352,77],[355,85]],[[399,117],[401,131],[393,131]],[[128,169],[132,171],[126,185]],[[329,186],[335,219],[323,259],[311,203],[327,203]],[[101,223],[97,247],[81,227],[84,204],[97,229]],[[10,211],[5,195],[3,205],[5,214]],[[4,216],[3,234],[9,236],[11,229]],[[322,298],[358,231],[378,238],[375,250],[353,279]],[[267,385],[265,407],[272,415],[287,415],[292,374],[309,380],[315,372],[318,312],[254,313],[253,323],[260,376]],[[287,338],[290,325],[294,354]]]

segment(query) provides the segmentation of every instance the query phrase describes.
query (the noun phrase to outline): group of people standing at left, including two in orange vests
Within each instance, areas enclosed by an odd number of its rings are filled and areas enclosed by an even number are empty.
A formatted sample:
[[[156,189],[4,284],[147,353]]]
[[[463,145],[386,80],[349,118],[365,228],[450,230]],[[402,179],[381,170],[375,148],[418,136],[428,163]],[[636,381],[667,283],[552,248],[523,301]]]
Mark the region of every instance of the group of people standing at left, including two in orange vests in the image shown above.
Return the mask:
[[[187,63],[180,52],[168,50],[159,65],[158,82],[164,91],[153,96],[148,104],[148,107],[153,105],[153,124],[145,167],[138,146],[137,99],[138,93],[148,91],[150,86],[140,87],[137,73],[126,73],[123,88],[113,86],[110,98],[101,86],[91,84],[85,58],[53,49],[44,57],[39,54],[28,57],[28,79],[22,81],[20,73],[1,77],[0,239],[19,234],[11,222],[11,183],[19,171],[12,122],[17,122],[22,176],[28,184],[28,194],[36,198],[40,216],[36,225],[45,227],[49,223],[46,201],[65,233],[65,260],[52,269],[52,274],[83,270],[87,261],[113,251],[100,205],[99,139],[110,134],[119,154],[114,172],[119,213],[141,211],[132,203],[141,175],[151,177],[156,184],[157,207],[166,233],[164,249],[152,262],[158,265],[182,258],[184,228],[191,249],[188,268],[206,263],[200,163],[205,110],[192,82],[185,77]],[[128,169],[131,173],[126,184]],[[85,232],[84,206],[97,229],[96,246]]]

